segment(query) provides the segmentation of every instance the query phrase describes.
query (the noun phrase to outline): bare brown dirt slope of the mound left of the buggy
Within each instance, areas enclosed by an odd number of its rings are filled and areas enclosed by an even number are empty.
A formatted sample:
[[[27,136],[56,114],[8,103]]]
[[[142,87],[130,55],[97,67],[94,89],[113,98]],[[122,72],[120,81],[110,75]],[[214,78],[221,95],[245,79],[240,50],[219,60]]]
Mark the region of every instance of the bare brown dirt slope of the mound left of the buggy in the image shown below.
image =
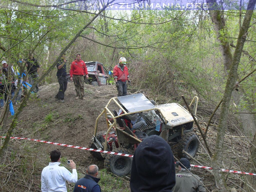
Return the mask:
[[[85,84],[84,87],[86,100],[76,100],[74,84],[68,82],[65,103],[60,103],[54,98],[59,89],[58,83],[39,87],[40,96],[28,102],[19,118],[20,123],[14,134],[55,143],[88,147],[94,133],[96,118],[110,97],[117,95],[117,91],[114,85],[93,87]],[[49,118],[51,115],[52,118]],[[49,121],[49,119],[52,120]],[[105,130],[105,127],[105,122],[99,122],[98,131]],[[73,159],[80,166],[87,167],[90,164],[96,164],[100,169],[104,168],[103,161],[97,161],[89,151],[45,143],[40,143],[40,145],[42,153],[48,154],[50,150],[59,148],[62,156]]]

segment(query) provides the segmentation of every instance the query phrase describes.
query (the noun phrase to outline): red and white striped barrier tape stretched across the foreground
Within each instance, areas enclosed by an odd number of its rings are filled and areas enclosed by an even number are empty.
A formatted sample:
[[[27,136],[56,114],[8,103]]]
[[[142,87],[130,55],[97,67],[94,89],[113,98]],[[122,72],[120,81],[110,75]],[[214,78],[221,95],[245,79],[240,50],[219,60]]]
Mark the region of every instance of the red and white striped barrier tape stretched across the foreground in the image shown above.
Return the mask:
[[[6,138],[3,136],[0,136],[0,138]],[[101,153],[107,153],[107,154],[113,154],[113,155],[121,155],[125,157],[133,157],[133,155],[129,154],[124,154],[124,153],[116,153],[112,151],[103,151],[103,150],[98,150],[98,149],[91,149],[91,148],[86,148],[86,147],[79,147],[79,146],[73,146],[73,145],[67,145],[67,144],[61,144],[61,143],[54,143],[50,141],[42,141],[38,139],[29,139],[29,138],[23,138],[23,137],[10,137],[11,139],[26,139],[26,140],[31,140],[31,141],[37,141],[37,142],[42,142],[42,143],[48,143],[48,144],[53,144],[53,145],[59,145],[59,146],[64,146],[64,147],[72,147],[76,149],[83,149],[83,150],[88,150],[88,151],[96,151],[96,152],[101,152]],[[205,167],[205,166],[200,166],[200,165],[190,165],[191,167],[199,167],[199,168],[206,168],[206,169],[212,169],[211,167]],[[241,171],[234,171],[234,170],[228,170],[228,169],[221,169],[224,172],[230,172],[230,173],[237,173],[237,174],[246,174],[246,175],[255,175],[255,173],[247,173],[247,172],[241,172]]]

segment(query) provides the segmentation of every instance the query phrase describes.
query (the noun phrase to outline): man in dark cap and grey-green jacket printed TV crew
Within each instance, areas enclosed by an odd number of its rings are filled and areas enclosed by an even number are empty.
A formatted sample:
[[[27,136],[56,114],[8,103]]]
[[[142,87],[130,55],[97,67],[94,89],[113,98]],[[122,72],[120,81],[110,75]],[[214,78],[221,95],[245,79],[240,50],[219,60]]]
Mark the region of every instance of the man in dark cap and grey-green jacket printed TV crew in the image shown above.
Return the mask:
[[[190,173],[190,163],[188,159],[181,158],[176,162],[179,167],[179,172],[176,174],[176,184],[173,187],[173,192],[205,192],[205,187],[202,179],[197,175]]]

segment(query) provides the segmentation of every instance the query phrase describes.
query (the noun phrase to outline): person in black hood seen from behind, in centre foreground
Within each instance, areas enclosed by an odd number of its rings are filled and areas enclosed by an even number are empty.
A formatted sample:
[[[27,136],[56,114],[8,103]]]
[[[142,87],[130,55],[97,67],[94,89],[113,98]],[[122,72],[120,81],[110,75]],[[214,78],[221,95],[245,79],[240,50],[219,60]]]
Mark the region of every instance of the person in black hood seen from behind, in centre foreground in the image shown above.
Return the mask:
[[[172,192],[175,185],[173,152],[157,135],[144,139],[133,155],[130,187],[132,192]]]

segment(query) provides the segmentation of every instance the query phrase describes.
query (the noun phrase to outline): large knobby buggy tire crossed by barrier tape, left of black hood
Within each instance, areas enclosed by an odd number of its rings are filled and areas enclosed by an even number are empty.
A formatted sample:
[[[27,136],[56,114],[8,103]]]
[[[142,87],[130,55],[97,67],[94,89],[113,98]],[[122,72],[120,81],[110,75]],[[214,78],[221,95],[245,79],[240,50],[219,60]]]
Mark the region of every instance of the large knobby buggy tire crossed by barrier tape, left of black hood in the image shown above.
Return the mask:
[[[122,147],[114,149],[113,152],[131,154],[129,150]],[[117,176],[129,175],[132,168],[132,157],[109,154],[104,161],[104,167]]]

